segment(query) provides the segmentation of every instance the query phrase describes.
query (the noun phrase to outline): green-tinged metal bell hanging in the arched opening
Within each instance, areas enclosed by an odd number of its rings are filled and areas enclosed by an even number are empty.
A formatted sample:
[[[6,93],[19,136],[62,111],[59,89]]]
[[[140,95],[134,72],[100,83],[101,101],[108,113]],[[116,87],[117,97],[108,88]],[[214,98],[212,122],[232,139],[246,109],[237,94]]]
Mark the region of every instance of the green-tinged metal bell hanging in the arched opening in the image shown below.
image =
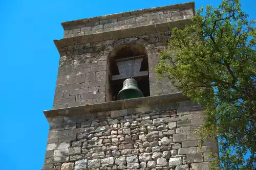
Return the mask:
[[[123,88],[117,94],[117,100],[143,98],[142,91],[138,88],[135,79],[126,79],[123,81]]]

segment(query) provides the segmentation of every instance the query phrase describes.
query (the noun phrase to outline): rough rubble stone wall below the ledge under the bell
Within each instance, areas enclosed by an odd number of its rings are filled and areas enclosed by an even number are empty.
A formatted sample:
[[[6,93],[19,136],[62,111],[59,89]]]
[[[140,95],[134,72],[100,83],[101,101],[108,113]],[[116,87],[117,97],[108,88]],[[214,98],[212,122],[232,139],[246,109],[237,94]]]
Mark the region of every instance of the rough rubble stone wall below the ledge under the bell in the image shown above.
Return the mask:
[[[191,101],[49,119],[44,170],[205,170],[215,139],[196,136],[205,121]]]

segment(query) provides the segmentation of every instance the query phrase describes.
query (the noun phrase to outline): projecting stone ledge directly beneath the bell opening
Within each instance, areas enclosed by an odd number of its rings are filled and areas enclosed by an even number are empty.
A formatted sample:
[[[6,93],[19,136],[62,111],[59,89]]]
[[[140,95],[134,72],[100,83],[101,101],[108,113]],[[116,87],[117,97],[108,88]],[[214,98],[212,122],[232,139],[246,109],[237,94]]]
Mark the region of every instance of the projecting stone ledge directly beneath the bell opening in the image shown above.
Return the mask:
[[[48,120],[56,116],[77,116],[86,115],[91,113],[108,113],[109,111],[122,110],[122,109],[132,109],[139,107],[147,107],[159,105],[163,106],[165,104],[172,104],[181,101],[188,100],[181,92],[148,96],[145,98],[120,100],[106,103],[99,103],[93,105],[84,105],[78,107],[69,107],[56,110],[46,110],[44,114]]]

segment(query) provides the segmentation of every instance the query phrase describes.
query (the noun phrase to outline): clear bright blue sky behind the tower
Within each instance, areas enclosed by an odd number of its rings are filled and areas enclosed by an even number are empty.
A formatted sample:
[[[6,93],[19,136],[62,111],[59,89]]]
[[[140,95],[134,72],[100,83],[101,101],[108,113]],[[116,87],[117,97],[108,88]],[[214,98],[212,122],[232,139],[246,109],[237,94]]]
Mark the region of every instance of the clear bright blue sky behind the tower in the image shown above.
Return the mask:
[[[59,61],[53,39],[63,37],[61,22],[184,2],[189,0],[0,0],[1,170],[37,170],[44,163],[49,124],[42,111],[53,104]],[[256,19],[256,1],[241,3]]]

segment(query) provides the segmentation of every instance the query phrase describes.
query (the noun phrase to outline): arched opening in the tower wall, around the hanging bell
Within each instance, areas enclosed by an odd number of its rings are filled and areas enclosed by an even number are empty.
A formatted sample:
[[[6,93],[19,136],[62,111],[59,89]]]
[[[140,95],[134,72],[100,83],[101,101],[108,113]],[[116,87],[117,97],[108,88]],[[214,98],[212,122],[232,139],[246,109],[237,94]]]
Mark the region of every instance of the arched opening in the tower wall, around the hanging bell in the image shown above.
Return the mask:
[[[131,60],[133,60],[131,62]],[[132,63],[133,67],[127,73],[125,63]],[[131,65],[131,64],[130,64]],[[130,66],[129,65],[129,66]],[[148,58],[145,48],[140,44],[122,44],[114,48],[107,59],[106,101],[116,101],[118,92],[123,88],[127,75],[138,83],[143,96],[150,96],[150,82],[148,78]]]

